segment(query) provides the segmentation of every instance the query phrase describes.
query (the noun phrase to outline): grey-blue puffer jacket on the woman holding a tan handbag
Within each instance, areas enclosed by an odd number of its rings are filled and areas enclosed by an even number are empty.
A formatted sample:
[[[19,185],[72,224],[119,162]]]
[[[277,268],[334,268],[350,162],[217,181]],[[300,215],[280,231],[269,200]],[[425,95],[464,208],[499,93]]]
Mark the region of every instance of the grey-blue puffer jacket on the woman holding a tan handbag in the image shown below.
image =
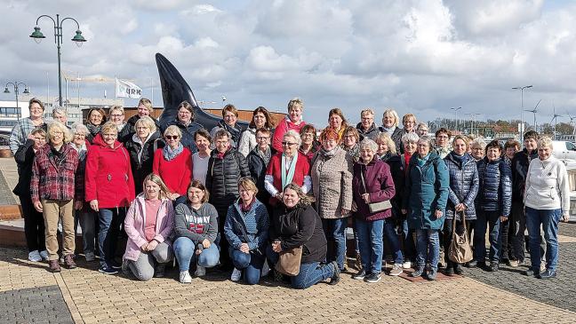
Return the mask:
[[[476,206],[474,201],[478,194],[479,180],[476,161],[470,154],[464,154],[462,165],[456,161],[450,153],[444,158],[450,177],[450,191],[448,205],[446,206],[446,218],[454,217],[455,206],[459,203],[466,205],[464,214],[467,220],[476,219]]]

